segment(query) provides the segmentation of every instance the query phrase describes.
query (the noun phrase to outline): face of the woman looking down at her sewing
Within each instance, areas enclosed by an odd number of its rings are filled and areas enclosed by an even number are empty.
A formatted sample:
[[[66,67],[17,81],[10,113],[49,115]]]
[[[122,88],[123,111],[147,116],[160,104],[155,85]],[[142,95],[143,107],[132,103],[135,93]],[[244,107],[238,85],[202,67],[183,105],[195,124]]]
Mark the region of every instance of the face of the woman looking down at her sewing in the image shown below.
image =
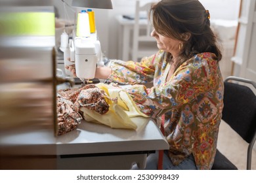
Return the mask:
[[[179,56],[179,44],[181,41],[177,39],[172,39],[170,37],[164,37],[156,32],[155,29],[151,32],[151,36],[156,39],[158,48],[164,50],[165,52],[170,52],[174,57]]]

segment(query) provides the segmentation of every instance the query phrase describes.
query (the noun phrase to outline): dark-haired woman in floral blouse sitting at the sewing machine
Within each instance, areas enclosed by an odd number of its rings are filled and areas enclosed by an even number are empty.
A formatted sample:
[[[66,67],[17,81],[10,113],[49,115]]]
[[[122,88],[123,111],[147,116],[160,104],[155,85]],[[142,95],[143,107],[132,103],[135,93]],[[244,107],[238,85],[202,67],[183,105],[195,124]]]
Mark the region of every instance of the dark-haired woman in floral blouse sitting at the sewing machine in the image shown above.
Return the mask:
[[[150,154],[146,169],[158,169],[159,157],[163,169],[211,169],[224,88],[209,12],[197,0],[162,0],[150,9],[150,20],[160,51],[140,63],[113,61],[96,77],[133,84],[128,92],[140,110],[163,121],[169,150]],[[139,85],[151,81],[152,88]]]

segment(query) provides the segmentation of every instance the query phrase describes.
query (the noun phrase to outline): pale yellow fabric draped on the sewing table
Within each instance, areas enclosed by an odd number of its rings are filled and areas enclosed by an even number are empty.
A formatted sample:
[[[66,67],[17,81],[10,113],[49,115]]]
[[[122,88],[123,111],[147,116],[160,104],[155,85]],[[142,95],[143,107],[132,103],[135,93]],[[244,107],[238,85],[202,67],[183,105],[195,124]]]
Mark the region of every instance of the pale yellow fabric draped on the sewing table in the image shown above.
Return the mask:
[[[110,110],[106,114],[98,114],[94,110],[89,110],[85,107],[81,107],[83,116],[87,122],[96,122],[104,125],[108,125],[112,128],[126,128],[137,129],[138,125],[143,125],[148,116],[140,112],[133,99],[122,88],[110,86],[108,84],[96,84],[98,88],[104,90],[108,97],[106,97],[107,103],[110,105]],[[113,102],[111,99],[116,99],[117,102]],[[133,121],[133,118],[138,124]]]

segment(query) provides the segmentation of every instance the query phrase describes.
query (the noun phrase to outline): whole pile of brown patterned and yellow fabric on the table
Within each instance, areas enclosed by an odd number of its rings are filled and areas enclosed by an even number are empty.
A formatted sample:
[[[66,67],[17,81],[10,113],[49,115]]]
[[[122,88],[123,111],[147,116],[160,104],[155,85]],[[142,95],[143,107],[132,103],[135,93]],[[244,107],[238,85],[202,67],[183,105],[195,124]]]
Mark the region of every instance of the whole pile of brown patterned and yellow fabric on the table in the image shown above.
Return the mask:
[[[74,130],[83,119],[122,129],[137,129],[148,122],[129,93],[113,84],[88,84],[58,94],[58,135]]]

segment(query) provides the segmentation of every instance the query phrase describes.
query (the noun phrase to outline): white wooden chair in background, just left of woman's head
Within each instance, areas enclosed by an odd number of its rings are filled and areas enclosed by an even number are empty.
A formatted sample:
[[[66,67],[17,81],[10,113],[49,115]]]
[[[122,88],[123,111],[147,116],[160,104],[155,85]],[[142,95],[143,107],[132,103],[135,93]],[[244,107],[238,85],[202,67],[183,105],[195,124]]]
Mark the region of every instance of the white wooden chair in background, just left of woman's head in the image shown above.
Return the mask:
[[[135,7],[135,24],[133,27],[133,49],[132,49],[132,59],[137,61],[139,58],[138,50],[139,50],[139,42],[156,42],[154,37],[150,36],[152,32],[152,24],[148,20],[148,12],[152,3],[156,2],[156,0],[152,0],[150,3],[146,3],[144,5],[140,5],[140,1],[136,1]],[[140,24],[140,20],[146,22],[146,24]],[[141,31],[141,29],[143,31]],[[157,46],[155,47],[157,50]]]

